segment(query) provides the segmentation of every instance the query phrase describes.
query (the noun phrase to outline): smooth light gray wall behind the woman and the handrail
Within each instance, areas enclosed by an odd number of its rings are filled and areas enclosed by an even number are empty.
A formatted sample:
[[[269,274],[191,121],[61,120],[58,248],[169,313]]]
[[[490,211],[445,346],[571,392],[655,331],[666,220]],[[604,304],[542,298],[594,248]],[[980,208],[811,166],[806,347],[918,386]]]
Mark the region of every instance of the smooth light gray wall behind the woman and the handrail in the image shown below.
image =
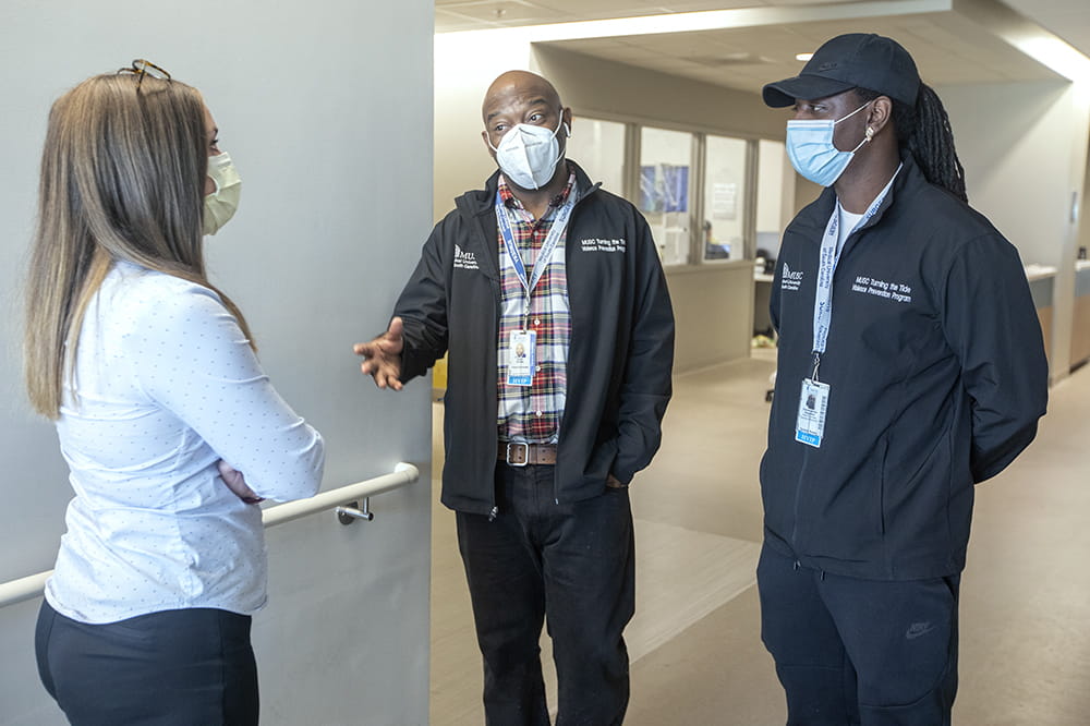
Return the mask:
[[[374,522],[328,513],[269,532],[265,724],[427,722],[429,390],[377,391],[351,343],[385,328],[431,228],[432,15],[429,0],[0,3],[0,581],[52,566],[72,496],[19,360],[46,117],[133,58],[202,89],[242,174],[209,266],[274,383],[325,434],[324,488],[421,464],[419,484],[372,503]],[[63,723],[34,668],[37,604],[0,610],[0,724]]]

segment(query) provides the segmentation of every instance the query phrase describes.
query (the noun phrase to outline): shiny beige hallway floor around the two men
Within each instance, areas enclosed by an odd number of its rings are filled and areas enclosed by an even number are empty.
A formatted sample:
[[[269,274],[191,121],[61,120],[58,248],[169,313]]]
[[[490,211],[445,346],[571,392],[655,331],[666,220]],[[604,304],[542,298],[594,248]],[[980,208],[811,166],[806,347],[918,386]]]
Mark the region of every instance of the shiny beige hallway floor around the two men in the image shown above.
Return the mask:
[[[771,353],[677,378],[663,449],[632,484],[638,601],[626,632],[628,726],[786,719],[760,640],[753,574]],[[978,488],[961,581],[956,724],[1090,723],[1088,411],[1090,366],[1053,387],[1037,441]],[[436,433],[441,416],[435,404]],[[438,472],[441,445],[434,461]],[[453,515],[434,484],[431,723],[477,726],[481,660]],[[547,686],[555,692],[552,676]]]

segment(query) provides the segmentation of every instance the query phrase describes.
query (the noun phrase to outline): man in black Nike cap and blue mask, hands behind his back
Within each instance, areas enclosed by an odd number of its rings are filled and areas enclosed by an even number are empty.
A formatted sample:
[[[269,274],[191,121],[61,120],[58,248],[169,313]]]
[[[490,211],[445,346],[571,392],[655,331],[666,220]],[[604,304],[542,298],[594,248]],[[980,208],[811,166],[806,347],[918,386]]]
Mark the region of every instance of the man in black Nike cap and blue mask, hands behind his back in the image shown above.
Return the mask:
[[[1029,286],[899,44],[833,38],[763,95],[794,106],[788,155],[827,189],[773,282],[762,638],[788,724],[949,724],[973,485],[1047,399]]]

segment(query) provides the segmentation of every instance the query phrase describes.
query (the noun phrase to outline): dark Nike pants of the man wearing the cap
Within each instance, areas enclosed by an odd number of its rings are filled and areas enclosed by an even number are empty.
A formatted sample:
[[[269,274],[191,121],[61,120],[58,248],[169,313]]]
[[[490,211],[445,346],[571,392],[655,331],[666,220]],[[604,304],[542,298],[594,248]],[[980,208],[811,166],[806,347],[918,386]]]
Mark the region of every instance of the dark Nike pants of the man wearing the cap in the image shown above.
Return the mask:
[[[765,545],[756,580],[788,726],[948,726],[959,576],[860,580]]]

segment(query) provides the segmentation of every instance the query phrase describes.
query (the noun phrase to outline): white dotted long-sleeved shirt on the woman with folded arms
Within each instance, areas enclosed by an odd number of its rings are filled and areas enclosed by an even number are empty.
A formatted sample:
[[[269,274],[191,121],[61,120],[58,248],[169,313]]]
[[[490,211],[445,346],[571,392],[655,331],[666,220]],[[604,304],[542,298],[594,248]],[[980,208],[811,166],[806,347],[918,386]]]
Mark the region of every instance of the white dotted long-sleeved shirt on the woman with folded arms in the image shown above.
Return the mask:
[[[265,604],[258,495],[312,496],[320,435],[274,390],[219,297],[128,263],[87,307],[57,431],[75,498],[46,600],[83,622]]]

